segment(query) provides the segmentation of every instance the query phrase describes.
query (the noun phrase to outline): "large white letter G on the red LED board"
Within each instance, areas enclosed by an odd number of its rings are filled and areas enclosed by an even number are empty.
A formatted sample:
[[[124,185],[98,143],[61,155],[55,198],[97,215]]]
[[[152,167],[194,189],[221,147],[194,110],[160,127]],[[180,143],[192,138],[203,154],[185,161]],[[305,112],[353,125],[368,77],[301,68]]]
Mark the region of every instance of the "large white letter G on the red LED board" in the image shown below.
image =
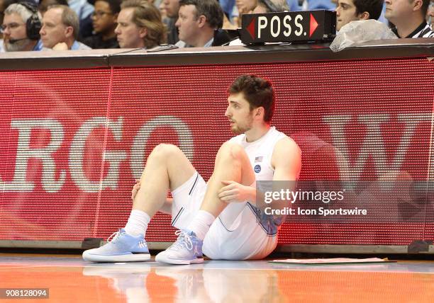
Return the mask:
[[[72,139],[71,151],[69,152],[69,170],[74,183],[86,193],[98,193],[99,190],[106,188],[116,189],[118,187],[119,165],[127,157],[125,151],[106,151],[102,155],[103,161],[109,162],[109,172],[101,181],[89,181],[83,168],[84,149],[87,138],[91,132],[99,127],[107,127],[113,133],[117,142],[122,140],[122,122],[123,118],[118,121],[107,120],[105,117],[94,117],[83,123],[78,132]]]

